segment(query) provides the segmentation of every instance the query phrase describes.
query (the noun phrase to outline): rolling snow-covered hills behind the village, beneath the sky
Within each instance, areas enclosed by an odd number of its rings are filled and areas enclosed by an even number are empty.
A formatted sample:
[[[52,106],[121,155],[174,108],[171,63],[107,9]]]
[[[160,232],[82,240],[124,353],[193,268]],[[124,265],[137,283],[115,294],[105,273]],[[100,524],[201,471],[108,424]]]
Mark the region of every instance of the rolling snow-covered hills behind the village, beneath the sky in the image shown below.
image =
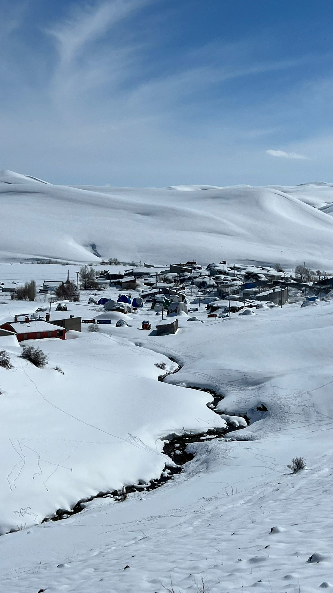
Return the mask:
[[[1,259],[198,259],[333,267],[332,186],[66,187],[3,171]],[[307,203],[305,203],[307,202]],[[315,205],[316,208],[312,206]]]

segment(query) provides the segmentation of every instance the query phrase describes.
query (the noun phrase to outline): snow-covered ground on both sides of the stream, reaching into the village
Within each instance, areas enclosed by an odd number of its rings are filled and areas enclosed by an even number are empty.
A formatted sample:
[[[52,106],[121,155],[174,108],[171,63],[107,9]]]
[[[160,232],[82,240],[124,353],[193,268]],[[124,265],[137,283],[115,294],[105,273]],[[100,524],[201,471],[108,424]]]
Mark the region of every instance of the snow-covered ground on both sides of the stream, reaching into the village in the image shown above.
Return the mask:
[[[26,265],[29,278],[49,267]],[[25,264],[10,267],[12,280],[23,278]],[[8,266],[0,265],[0,280],[2,271]],[[90,294],[68,312],[90,317]],[[7,320],[18,303],[4,303]],[[160,593],[172,581],[185,593],[201,577],[211,593],[333,585],[332,307],[296,303],[210,321],[201,305],[195,315],[205,323],[182,315],[177,334],[156,336],[161,317],[146,305],[127,315],[130,327],[113,321],[96,335],[84,326],[78,339],[40,343],[46,369],[30,368],[18,346],[0,339],[16,368],[0,368],[1,518],[23,528],[0,537],[1,592]],[[140,329],[143,318],[151,332]],[[182,369],[158,382],[155,362],[172,368],[165,356]],[[34,525],[30,512],[38,522],[107,483],[158,474],[159,436],[170,429],[219,422],[206,407],[210,395],[187,386],[222,393],[219,412],[246,413],[250,425],[189,445],[193,461],[158,490],[122,503],[96,499],[69,519]],[[307,468],[291,475],[295,455],[305,455]]]

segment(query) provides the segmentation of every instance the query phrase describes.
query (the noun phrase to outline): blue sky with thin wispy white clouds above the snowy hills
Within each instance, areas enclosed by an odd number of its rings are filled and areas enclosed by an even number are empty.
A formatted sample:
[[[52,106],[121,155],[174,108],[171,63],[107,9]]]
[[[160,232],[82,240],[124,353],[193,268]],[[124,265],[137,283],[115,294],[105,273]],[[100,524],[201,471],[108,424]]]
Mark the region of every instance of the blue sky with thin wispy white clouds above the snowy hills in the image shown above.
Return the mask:
[[[331,0],[0,0],[0,168],[332,181]]]

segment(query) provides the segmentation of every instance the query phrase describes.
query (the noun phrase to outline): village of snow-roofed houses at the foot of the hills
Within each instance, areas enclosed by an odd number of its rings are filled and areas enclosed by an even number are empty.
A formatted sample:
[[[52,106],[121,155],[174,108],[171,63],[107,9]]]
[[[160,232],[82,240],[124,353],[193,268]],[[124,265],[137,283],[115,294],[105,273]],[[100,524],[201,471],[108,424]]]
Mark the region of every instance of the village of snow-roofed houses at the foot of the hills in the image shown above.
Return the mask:
[[[197,311],[196,304],[206,304],[208,317],[226,317],[230,313],[251,313],[254,307],[260,307],[260,301],[268,306],[284,305],[288,300],[290,288],[308,290],[308,298],[315,299],[333,289],[333,277],[322,279],[321,282],[302,283],[294,280],[283,270],[264,266],[246,266],[242,264],[228,265],[225,260],[212,263],[203,269],[195,261],[170,264],[165,270],[157,271],[154,267],[135,267],[124,270],[124,273],[110,273],[107,269],[97,277],[100,288],[114,286],[122,291],[133,291],[141,288],[140,296],[131,300],[130,294],[120,294],[116,300],[100,298],[89,299],[88,304],[102,305],[104,311],[133,313],[142,308],[144,303],[151,304],[151,310],[162,315],[156,325],[156,333],[175,333],[178,329],[177,315]],[[59,280],[44,281],[41,291],[50,294],[59,285]],[[17,286],[2,285],[2,292],[14,292]],[[188,310],[187,298],[193,295],[192,306]],[[259,301],[259,303],[258,303]],[[243,310],[243,311],[242,311]],[[21,316],[22,317],[22,316]],[[197,318],[193,318],[196,319]],[[57,337],[65,339],[66,331],[81,331],[82,323],[111,323],[103,315],[85,319],[68,315],[65,311],[54,311],[40,317],[33,314],[22,319],[15,317],[0,326],[0,336],[15,335],[18,342],[28,339]],[[142,329],[151,329],[149,321],[143,321]]]

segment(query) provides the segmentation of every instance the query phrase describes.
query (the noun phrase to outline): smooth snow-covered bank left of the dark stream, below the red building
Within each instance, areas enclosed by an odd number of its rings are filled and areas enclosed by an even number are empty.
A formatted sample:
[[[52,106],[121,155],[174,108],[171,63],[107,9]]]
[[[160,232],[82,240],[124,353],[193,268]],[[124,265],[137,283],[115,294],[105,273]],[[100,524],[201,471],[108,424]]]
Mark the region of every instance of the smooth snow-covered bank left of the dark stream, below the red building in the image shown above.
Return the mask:
[[[172,463],[160,437],[226,426],[207,408],[207,394],[157,380],[164,356],[121,338],[39,340],[49,356],[43,369],[9,339],[0,338],[13,365],[0,366],[0,534],[100,490],[159,477]]]

